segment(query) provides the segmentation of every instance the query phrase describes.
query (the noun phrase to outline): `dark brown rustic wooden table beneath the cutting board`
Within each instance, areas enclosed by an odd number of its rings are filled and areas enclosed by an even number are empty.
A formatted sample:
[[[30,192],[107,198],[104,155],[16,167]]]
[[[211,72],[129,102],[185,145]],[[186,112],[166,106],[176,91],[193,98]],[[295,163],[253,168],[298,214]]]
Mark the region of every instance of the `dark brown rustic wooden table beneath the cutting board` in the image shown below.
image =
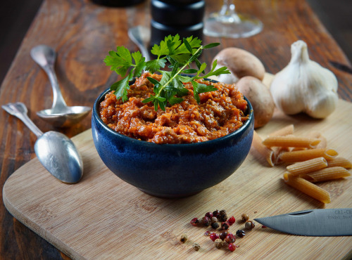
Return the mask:
[[[220,8],[220,1],[207,0],[206,12]],[[352,74],[332,67],[331,62],[351,67],[337,43],[303,0],[238,0],[237,9],[252,13],[263,21],[264,30],[247,39],[204,37],[205,44],[219,41],[221,46],[202,56],[208,63],[221,48],[244,48],[263,61],[267,72],[275,74],[287,65],[291,44],[302,39],[310,58],[332,70],[339,80],[339,96],[352,100]],[[123,45],[137,51],[127,37],[128,28],[149,25],[149,1],[129,8],[105,8],[88,0],[45,0],[32,22],[15,60],[0,89],[0,105],[23,102],[29,117],[42,131],[59,130],[69,137],[90,128],[90,115],[69,129],[54,129],[37,117],[36,112],[51,107],[51,87],[43,70],[30,58],[37,44],[53,46],[58,52],[56,72],[68,105],[89,105],[101,91],[115,81],[115,74],[103,64],[108,51]],[[0,112],[0,187],[16,169],[35,157],[36,136],[22,122]],[[26,134],[24,134],[26,133]],[[4,259],[66,258],[58,250],[13,219],[0,204],[0,257]]]

